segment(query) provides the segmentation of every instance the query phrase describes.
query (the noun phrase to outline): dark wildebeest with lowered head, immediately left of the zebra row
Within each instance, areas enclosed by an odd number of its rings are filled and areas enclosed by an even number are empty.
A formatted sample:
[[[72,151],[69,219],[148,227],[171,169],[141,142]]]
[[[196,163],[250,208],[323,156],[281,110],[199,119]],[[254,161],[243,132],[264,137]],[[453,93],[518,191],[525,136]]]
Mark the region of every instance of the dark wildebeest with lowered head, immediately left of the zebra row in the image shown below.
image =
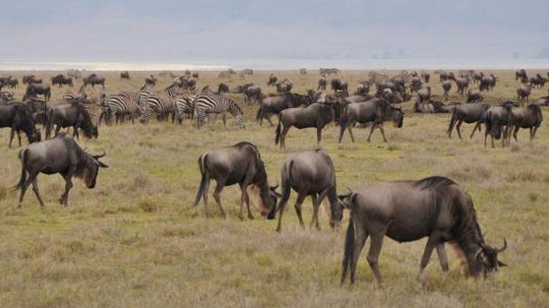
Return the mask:
[[[56,104],[50,107],[47,112],[48,125],[46,126],[46,139],[50,138],[53,126],[56,126],[55,134],[58,134],[61,127],[73,127],[73,136],[80,137],[78,129],[81,128],[86,138],[99,135],[97,126],[91,121],[89,113],[84,104],[73,101],[65,104]]]

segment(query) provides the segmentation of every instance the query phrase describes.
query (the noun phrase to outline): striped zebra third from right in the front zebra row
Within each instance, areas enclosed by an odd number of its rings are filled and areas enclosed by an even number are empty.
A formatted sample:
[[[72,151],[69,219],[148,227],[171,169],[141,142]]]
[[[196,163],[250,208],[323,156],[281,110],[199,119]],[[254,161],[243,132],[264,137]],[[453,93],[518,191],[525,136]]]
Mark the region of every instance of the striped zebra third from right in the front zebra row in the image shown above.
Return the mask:
[[[143,105],[143,113],[139,121],[145,123],[151,118],[168,119],[169,115],[174,112],[175,97],[181,93],[182,88],[179,84],[174,83],[160,93],[149,95]]]

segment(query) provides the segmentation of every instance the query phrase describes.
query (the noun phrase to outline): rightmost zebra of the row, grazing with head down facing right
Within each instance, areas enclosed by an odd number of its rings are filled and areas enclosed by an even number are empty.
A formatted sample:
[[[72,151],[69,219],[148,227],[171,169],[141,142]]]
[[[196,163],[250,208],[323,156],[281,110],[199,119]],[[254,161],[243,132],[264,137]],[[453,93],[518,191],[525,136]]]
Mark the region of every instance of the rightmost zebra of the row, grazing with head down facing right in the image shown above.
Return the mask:
[[[223,126],[226,126],[226,112],[233,116],[238,127],[244,128],[244,119],[242,118],[244,112],[242,112],[239,105],[227,96],[201,94],[195,100],[194,117],[197,120],[197,127],[201,127],[204,124],[206,115],[210,113],[222,113]]]

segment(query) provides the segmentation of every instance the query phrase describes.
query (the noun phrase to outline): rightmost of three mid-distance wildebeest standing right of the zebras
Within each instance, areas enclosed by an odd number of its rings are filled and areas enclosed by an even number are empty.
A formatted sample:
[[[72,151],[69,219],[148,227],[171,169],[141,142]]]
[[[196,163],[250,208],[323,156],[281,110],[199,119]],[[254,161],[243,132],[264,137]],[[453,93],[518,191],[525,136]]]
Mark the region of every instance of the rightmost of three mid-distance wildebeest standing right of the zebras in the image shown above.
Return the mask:
[[[363,103],[347,104],[341,115],[341,119],[339,119],[339,142],[343,140],[345,128],[349,131],[351,140],[354,142],[352,127],[354,127],[357,122],[361,124],[368,122],[373,124],[370,128],[367,142],[370,142],[370,138],[376,127],[379,127],[379,130],[382,132],[383,141],[387,142],[385,131],[383,130],[383,122],[389,120],[393,122],[395,127],[402,127],[404,113],[400,108],[395,108],[379,98],[374,98]]]

